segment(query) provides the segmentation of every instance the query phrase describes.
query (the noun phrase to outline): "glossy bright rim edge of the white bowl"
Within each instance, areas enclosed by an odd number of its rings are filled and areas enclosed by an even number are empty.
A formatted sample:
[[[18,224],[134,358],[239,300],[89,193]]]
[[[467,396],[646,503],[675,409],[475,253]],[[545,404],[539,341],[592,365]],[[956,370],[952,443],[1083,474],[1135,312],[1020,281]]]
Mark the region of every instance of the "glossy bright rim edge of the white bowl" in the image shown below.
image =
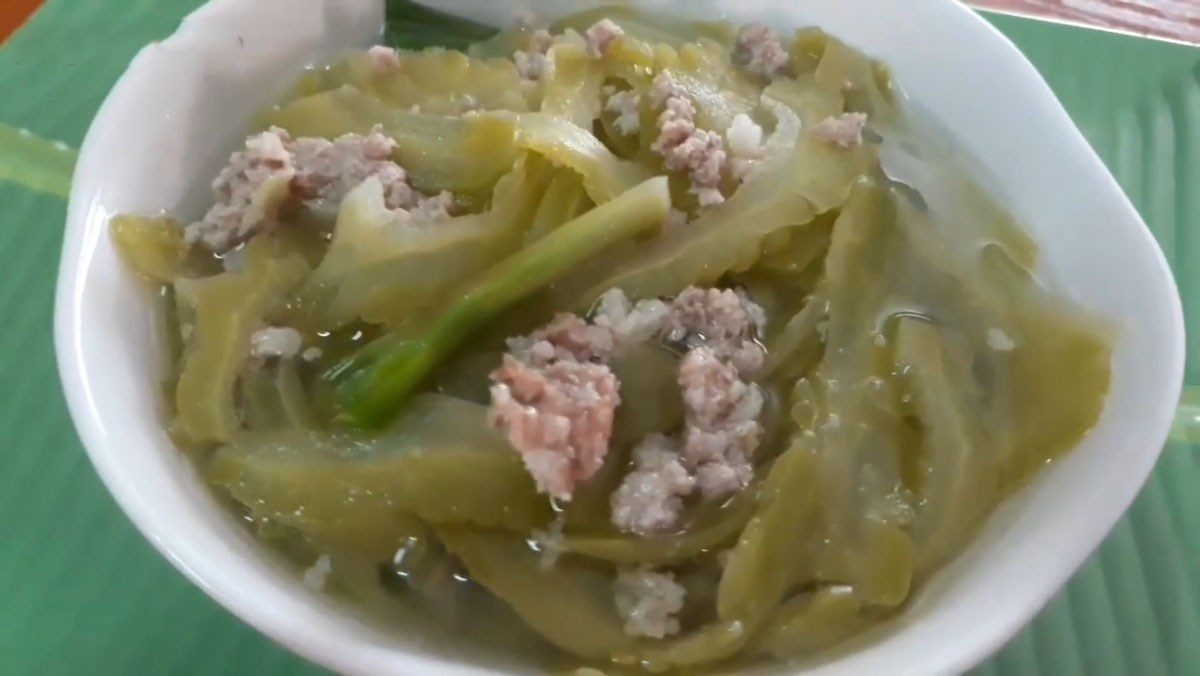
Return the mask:
[[[241,1],[242,0],[210,0],[188,14],[180,28],[169,38],[164,40],[163,43],[179,42],[180,37],[186,35],[191,26],[220,20],[222,13]],[[1037,85],[1045,90],[1045,95],[1049,97],[1049,101],[1052,101],[1057,107],[1058,113],[1066,116],[1066,110],[1062,109],[1061,103],[1050,91],[1049,85],[1046,85],[1040,74],[1038,74],[1033,68],[1032,64],[1028,62],[1025,55],[1021,54],[1021,52],[1007,36],[959,0],[937,1],[941,1],[947,6],[946,11],[955,11],[967,16],[967,18],[974,22],[978,28],[985,30],[991,40],[1000,41],[1006,49],[1010,50],[1012,56],[1014,59],[1019,59],[1021,65],[1032,72],[1037,79]],[[80,149],[80,161],[77,164],[76,181],[73,181],[73,185],[82,185],[84,183],[79,179],[88,171],[89,163],[84,160],[90,156],[90,152],[92,152],[92,148],[96,144],[94,132],[110,122],[109,118],[114,116],[114,108],[116,107],[115,102],[128,96],[133,74],[137,73],[142,66],[144,66],[146,60],[152,58],[149,50],[149,47],[143,49],[133,59],[130,67],[125,71],[125,73],[122,73],[121,78],[118,80],[101,106]],[[1116,183],[1116,179],[1112,178],[1111,173],[1103,166],[1094,150],[1082,138],[1081,132],[1073,121],[1070,122],[1070,130],[1079,137],[1079,140],[1087,149],[1087,152],[1090,154],[1088,160],[1104,168],[1109,189],[1120,195],[1124,207],[1134,215],[1136,222],[1141,225],[1144,235],[1153,241],[1148,228],[1141,220],[1140,215],[1138,215],[1123,190],[1121,190],[1120,185]],[[82,256],[85,249],[82,238],[86,234],[86,225],[90,219],[90,211],[94,208],[94,197],[95,196],[91,195],[82,195],[74,189],[72,189],[71,192],[67,227],[64,238],[62,258],[59,269],[55,295],[54,342],[60,381],[72,421],[74,423],[76,430],[78,431],[97,474],[101,477],[109,492],[112,492],[126,516],[136,525],[138,531],[150,542],[150,544],[172,563],[172,566],[180,570],[196,586],[203,590],[205,594],[220,603],[239,618],[262,632],[264,635],[316,664],[332,668],[341,672],[353,674],[373,672],[377,666],[383,664],[390,664],[394,668],[398,665],[404,669],[422,672],[426,670],[446,674],[479,674],[481,671],[486,671],[464,663],[446,663],[437,659],[436,657],[425,656],[419,652],[394,650],[383,654],[366,654],[362,651],[370,650],[371,647],[366,645],[364,645],[361,650],[344,650],[348,646],[326,640],[325,636],[316,630],[302,626],[289,624],[286,618],[281,618],[276,614],[272,614],[270,609],[260,608],[248,599],[230,593],[230,591],[221,584],[220,579],[214,576],[214,570],[205,568],[204,564],[198,564],[196,560],[196,550],[191,546],[186,546],[186,542],[190,540],[190,537],[182,536],[178,533],[178,531],[172,530],[168,519],[163,515],[156,514],[154,505],[142,501],[138,495],[137,486],[125,480],[122,477],[122,467],[118,456],[107,453],[106,432],[101,421],[94,414],[94,403],[91,401],[91,397],[94,396],[94,384],[85,377],[85,360],[78,340],[78,307],[80,301],[79,267],[84,263]],[[1183,382],[1184,329],[1182,303],[1174,275],[1171,274],[1166,258],[1157,243],[1153,244],[1153,251],[1157,257],[1156,262],[1159,268],[1158,271],[1166,277],[1166,283],[1169,285],[1169,289],[1171,292],[1171,335],[1169,336],[1171,349],[1170,353],[1163,355],[1163,358],[1170,363],[1169,370],[1170,372],[1176,373],[1177,377],[1175,378],[1175,382],[1170,382],[1164,385],[1164,391],[1177,399]],[[1146,424],[1146,427],[1153,432],[1147,435],[1147,438],[1157,439],[1157,448],[1159,450],[1152,454],[1147,451],[1146,457],[1142,459],[1142,465],[1145,467],[1130,468],[1135,474],[1138,474],[1138,490],[1130,491],[1128,496],[1124,496],[1121,501],[1118,501],[1120,509],[1114,510],[1116,516],[1112,518],[1111,522],[1105,522],[1103,525],[1103,533],[1108,533],[1116,525],[1117,519],[1120,519],[1120,516],[1128,509],[1129,504],[1140,492],[1141,486],[1145,484],[1154,462],[1158,459],[1158,453],[1160,453],[1162,449],[1162,442],[1166,438],[1171,421],[1170,412],[1162,411],[1160,413],[1162,415],[1159,415],[1159,419],[1148,420]],[[989,654],[997,651],[1018,630],[1027,624],[1030,620],[1032,620],[1032,617],[1045,605],[1045,603],[1050,600],[1052,591],[1060,588],[1070,576],[1074,575],[1074,573],[1085,563],[1091,552],[1100,545],[1103,539],[1103,537],[1096,539],[1096,543],[1090,550],[1070,560],[1068,563],[1064,563],[1054,574],[1046,575],[1043,579],[1040,585],[1049,588],[1051,593],[1044,594],[1045,602],[1042,605],[1028,608],[1027,612],[1013,616],[1008,622],[992,623],[992,628],[986,632],[986,636],[974,640],[970,648],[959,650],[956,652],[949,651],[943,656],[941,662],[931,663],[934,670],[937,672],[961,672],[974,666]],[[402,664],[397,660],[402,660]]]

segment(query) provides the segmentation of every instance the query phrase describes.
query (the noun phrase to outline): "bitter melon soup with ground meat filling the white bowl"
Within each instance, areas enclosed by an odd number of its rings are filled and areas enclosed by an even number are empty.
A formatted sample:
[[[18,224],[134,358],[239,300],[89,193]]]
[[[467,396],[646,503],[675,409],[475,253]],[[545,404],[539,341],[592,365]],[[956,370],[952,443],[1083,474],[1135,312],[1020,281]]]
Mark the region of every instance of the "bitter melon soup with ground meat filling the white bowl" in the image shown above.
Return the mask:
[[[112,235],[180,451],[372,616],[546,669],[847,650],[1104,408],[1109,324],[816,28],[593,11],[287,91],[211,209]]]

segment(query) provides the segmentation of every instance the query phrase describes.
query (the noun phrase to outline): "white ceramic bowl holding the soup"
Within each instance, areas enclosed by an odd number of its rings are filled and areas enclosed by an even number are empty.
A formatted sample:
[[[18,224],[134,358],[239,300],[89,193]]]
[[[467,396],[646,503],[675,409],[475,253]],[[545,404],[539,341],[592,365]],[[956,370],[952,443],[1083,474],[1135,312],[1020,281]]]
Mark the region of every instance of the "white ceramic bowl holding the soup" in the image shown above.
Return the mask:
[[[505,18],[512,5],[440,2]],[[550,1],[539,11],[578,8]],[[670,2],[647,2],[652,6]],[[683,2],[676,4],[676,11]],[[372,43],[376,0],[215,0],[145,48],[109,95],[76,172],[55,341],[64,389],[101,478],[146,538],[212,598],[313,662],[350,674],[514,670],[511,656],[386,632],[307,592],[217,507],[163,433],[151,306],[106,234],[120,211],[198,213],[215,175],[304,64]],[[1045,83],[952,0],[720,0],[686,12],[821,25],[888,61],[990,174],[1061,288],[1116,318],[1112,393],[1097,429],[1015,496],[904,616],[821,674],[948,674],[997,650],[1099,545],[1154,465],[1183,365],[1180,300],[1150,232]]]

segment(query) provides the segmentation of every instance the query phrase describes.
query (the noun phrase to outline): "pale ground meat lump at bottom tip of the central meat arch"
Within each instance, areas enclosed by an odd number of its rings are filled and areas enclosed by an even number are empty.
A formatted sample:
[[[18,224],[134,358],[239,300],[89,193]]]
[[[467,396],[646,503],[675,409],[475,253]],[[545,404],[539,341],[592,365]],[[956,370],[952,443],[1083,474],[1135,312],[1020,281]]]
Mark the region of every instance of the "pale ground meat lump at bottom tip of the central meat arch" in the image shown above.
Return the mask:
[[[631,533],[670,531],[679,524],[683,498],[695,487],[678,442],[650,435],[634,448],[634,471],[612,495],[612,522]]]

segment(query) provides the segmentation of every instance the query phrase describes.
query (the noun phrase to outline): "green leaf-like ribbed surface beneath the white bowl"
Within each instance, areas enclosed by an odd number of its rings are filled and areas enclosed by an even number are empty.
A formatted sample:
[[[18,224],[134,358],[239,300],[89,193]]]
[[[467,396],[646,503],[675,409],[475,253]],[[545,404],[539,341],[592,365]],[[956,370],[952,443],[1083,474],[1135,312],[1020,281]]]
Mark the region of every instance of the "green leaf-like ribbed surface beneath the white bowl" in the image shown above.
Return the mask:
[[[50,0],[0,47],[0,121],[78,144],[138,48],[199,4]],[[1166,251],[1188,315],[1187,379],[1200,384],[1200,50],[992,20],[1050,80]],[[160,558],[92,472],[50,337],[64,216],[55,198],[0,185],[0,672],[319,671]],[[1098,554],[978,674],[1200,674],[1196,445],[1166,448]]]

